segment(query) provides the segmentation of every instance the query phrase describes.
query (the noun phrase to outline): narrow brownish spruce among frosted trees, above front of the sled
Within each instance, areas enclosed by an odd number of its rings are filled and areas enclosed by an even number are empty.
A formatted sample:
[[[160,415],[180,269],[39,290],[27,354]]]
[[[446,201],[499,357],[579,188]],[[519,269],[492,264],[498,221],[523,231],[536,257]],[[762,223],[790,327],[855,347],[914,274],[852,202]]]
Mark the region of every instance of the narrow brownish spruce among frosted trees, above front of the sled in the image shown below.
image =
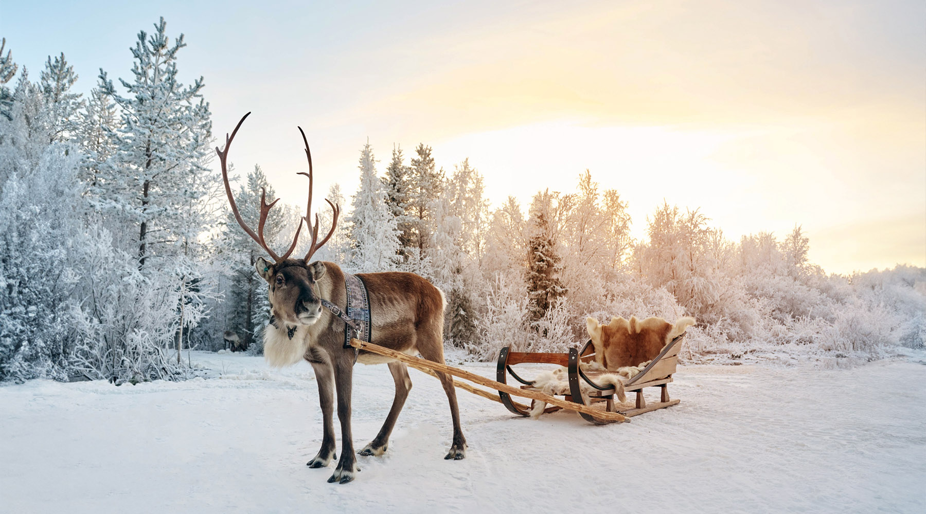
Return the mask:
[[[557,234],[554,207],[558,194],[548,190],[537,193],[531,206],[531,221],[528,230],[528,316],[533,323],[540,321],[557,301],[568,292],[559,280],[561,258],[557,255]]]

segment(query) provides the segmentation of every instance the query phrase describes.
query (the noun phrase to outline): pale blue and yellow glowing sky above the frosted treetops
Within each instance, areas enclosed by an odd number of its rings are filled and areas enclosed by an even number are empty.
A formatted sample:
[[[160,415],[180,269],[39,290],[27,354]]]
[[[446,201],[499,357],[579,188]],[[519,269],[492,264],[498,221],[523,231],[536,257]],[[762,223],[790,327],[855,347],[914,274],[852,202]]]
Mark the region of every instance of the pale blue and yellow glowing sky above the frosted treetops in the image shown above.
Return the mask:
[[[469,157],[494,204],[588,168],[637,237],[665,200],[733,240],[801,225],[828,272],[926,266],[921,0],[0,0],[0,36],[36,80],[63,51],[89,92],[99,67],[129,78],[159,16],[217,138],[253,111],[231,159],[284,202],[305,199],[301,125],[322,194],[356,189],[368,138],[381,170],[425,142],[448,172]]]

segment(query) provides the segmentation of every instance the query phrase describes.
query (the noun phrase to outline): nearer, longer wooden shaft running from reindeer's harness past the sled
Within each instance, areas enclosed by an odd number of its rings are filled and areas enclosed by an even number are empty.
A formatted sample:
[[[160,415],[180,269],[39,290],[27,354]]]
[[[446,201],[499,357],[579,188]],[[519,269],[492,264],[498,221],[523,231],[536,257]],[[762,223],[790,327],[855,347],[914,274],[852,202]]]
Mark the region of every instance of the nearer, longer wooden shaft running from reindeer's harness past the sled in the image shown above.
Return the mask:
[[[405,362],[407,365],[415,368],[416,370],[421,370],[422,368],[425,368],[425,369],[429,369],[435,372],[452,374],[454,376],[458,376],[460,378],[469,380],[469,382],[475,382],[476,384],[479,384],[479,385],[485,385],[486,387],[491,387],[498,391],[506,392],[509,395],[514,395],[514,396],[518,396],[522,398],[532,398],[532,399],[544,401],[550,405],[556,405],[557,407],[561,407],[566,410],[578,410],[579,412],[584,412],[600,420],[608,420],[608,421],[614,421],[614,422],[630,422],[630,420],[627,419],[626,416],[619,414],[617,412],[607,412],[604,410],[593,409],[587,405],[581,405],[581,404],[573,403],[571,401],[567,401],[564,399],[551,397],[549,395],[544,395],[544,393],[532,391],[531,389],[519,389],[518,387],[513,387],[507,384],[502,384],[501,382],[495,382],[494,380],[490,380],[476,373],[469,373],[459,368],[454,368],[446,364],[441,364],[440,362],[427,361],[425,359],[420,359],[419,357],[412,357],[400,351],[395,351],[394,349],[384,348],[384,347],[381,347],[380,345],[374,345],[372,343],[365,343],[359,339],[351,339],[350,344],[352,347],[356,349],[363,349],[366,351],[371,351],[373,353],[378,353],[382,355],[383,357],[388,357],[396,361]],[[475,389],[475,387],[473,387],[473,389]],[[483,395],[480,395],[480,396],[483,396]]]

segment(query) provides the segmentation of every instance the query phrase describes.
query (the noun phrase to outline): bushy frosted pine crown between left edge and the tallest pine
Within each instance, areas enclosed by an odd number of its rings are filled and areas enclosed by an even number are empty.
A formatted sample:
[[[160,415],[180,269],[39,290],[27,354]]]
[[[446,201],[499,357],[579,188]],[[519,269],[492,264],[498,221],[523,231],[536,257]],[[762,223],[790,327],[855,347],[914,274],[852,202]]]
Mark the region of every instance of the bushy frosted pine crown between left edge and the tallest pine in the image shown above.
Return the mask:
[[[55,57],[48,56],[45,68],[40,75],[40,83],[45,102],[49,105],[52,141],[70,141],[76,136],[80,126],[80,112],[83,106],[81,93],[70,92],[77,82],[74,67],[68,64],[64,53]],[[49,141],[49,142],[52,142]]]

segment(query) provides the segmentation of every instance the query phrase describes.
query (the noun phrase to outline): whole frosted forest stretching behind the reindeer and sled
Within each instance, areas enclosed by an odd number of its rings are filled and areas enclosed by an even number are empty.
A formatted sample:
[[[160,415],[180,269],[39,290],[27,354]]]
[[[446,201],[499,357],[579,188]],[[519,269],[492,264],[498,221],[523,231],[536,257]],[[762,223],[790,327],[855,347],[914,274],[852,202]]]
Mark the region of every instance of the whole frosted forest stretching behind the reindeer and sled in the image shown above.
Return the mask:
[[[163,18],[139,32],[131,62],[101,69],[87,95],[64,54],[36,76],[3,44],[0,380],[183,379],[195,374],[186,350],[224,349],[226,331],[259,354],[264,253],[226,201],[214,150],[225,128],[212,126],[206,80],[178,81],[183,36]],[[358,145],[358,190],[327,191],[344,214],[315,257],[431,280],[457,359],[561,351],[586,339],[586,316],[692,315],[688,362],[842,366],[926,340],[926,269],[828,275],[808,260],[801,226],[731,240],[709,205],[631,219],[621,191],[582,162],[564,170],[575,190],[541,187],[528,205],[489,199],[479,163],[440,163],[427,141],[374,142]],[[259,166],[233,175],[256,226],[273,185]],[[266,234],[281,248],[302,213],[277,211]]]

